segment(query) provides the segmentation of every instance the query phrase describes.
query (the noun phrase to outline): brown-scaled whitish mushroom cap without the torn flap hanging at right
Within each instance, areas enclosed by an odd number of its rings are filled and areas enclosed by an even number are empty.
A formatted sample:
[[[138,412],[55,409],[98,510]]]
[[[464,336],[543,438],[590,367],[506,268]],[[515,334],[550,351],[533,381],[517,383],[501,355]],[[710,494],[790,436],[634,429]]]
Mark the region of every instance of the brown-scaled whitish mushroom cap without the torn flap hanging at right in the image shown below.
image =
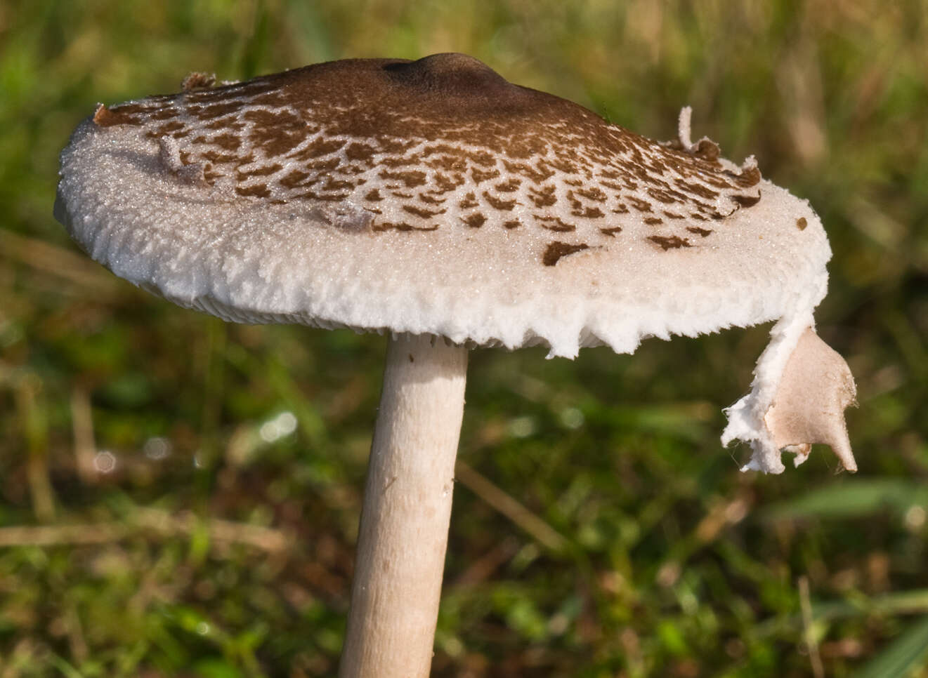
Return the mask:
[[[56,216],[182,306],[550,355],[750,326],[824,296],[805,200],[480,61],[351,59],[106,108]]]

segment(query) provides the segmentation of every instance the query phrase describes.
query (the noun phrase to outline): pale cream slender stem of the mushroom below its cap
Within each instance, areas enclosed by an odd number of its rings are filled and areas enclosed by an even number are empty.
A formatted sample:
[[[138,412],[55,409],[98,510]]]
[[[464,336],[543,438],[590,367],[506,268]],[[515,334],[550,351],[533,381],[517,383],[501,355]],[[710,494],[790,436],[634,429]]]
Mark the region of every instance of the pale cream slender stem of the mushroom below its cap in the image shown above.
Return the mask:
[[[429,674],[466,374],[462,346],[426,335],[390,340],[342,678]]]

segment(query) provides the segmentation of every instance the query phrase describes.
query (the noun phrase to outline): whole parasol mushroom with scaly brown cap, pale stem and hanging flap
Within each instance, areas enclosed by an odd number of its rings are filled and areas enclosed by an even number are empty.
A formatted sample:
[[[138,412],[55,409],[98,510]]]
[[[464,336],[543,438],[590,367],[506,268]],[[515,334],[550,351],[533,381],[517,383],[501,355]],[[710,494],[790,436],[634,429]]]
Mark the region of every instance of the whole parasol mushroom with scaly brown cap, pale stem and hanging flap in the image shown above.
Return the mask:
[[[187,308],[389,335],[343,676],[429,672],[470,347],[777,321],[724,441],[745,468],[824,441],[854,470],[853,379],[811,330],[825,232],[753,158],[692,143],[689,109],[659,144],[457,54],[186,84],[82,122],[55,213]]]

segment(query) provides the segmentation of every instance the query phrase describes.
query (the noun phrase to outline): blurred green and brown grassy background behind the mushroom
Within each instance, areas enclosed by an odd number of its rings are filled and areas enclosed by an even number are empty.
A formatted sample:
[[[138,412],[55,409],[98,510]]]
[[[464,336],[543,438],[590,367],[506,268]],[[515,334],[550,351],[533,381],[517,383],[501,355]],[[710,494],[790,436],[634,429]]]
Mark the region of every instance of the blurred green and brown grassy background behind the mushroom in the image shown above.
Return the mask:
[[[928,3],[0,0],[0,678],[334,674],[384,339],[115,278],[58,152],[191,70],[442,51],[811,200],[860,471],[720,446],[768,326],[473,352],[434,675],[928,676]]]

